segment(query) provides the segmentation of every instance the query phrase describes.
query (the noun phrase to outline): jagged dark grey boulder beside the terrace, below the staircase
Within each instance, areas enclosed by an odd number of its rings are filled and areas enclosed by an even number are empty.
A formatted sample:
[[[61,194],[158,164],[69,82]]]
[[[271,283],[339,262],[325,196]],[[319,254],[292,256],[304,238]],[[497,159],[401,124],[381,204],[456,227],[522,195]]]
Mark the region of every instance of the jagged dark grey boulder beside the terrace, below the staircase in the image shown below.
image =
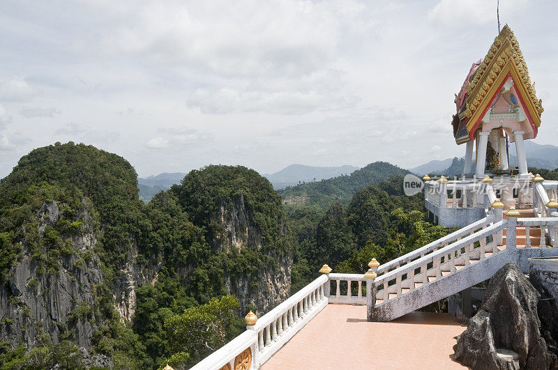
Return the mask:
[[[515,263],[504,265],[490,279],[481,309],[457,337],[455,359],[473,369],[558,368],[539,331],[539,298]]]

